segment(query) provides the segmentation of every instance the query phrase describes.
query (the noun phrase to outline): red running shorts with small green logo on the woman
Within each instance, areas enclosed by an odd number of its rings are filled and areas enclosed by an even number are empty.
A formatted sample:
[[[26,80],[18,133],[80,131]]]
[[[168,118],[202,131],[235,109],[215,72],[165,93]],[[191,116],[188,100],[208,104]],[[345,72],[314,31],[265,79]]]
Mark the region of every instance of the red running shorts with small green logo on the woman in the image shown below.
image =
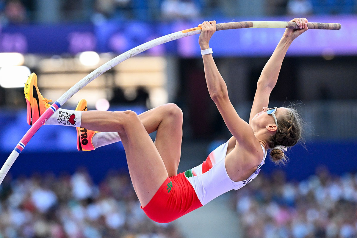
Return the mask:
[[[185,173],[179,173],[162,183],[150,202],[141,209],[153,221],[167,223],[202,207]]]

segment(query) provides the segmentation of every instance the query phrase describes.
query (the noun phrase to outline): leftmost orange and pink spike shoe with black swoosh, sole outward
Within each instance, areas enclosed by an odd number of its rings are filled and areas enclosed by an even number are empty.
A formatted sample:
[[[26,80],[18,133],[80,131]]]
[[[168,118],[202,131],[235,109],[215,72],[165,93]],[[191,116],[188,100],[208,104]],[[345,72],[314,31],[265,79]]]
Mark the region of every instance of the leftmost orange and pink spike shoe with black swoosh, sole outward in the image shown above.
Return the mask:
[[[39,88],[37,87],[37,75],[32,73],[25,83],[24,87],[25,99],[27,104],[27,123],[32,126],[39,117],[49,108],[52,102],[47,98],[44,98]]]

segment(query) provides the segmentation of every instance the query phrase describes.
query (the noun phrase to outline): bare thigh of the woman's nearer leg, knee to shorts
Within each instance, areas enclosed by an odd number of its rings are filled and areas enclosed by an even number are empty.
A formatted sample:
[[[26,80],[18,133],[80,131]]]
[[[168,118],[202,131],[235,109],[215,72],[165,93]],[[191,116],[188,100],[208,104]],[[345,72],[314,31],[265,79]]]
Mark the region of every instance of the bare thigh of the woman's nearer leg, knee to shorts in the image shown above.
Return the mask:
[[[118,133],[125,149],[132,184],[144,207],[168,177],[168,173],[145,127],[133,113],[124,123],[124,130]]]

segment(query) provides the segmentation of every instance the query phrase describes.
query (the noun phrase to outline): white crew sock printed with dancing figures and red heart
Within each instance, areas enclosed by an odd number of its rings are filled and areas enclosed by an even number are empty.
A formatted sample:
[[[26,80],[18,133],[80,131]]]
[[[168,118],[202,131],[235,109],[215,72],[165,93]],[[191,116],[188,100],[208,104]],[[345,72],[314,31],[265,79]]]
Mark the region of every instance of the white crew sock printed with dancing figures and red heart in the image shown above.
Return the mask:
[[[45,125],[61,125],[81,127],[82,111],[66,110],[59,108],[45,122]]]

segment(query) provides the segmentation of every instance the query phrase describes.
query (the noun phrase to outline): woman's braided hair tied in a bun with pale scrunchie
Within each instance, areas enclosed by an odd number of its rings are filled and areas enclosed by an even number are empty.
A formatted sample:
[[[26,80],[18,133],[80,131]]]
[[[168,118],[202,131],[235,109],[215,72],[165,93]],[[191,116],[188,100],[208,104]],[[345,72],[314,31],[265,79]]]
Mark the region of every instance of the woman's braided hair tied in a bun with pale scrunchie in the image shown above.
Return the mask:
[[[267,145],[271,148],[270,157],[276,165],[285,165],[288,157],[285,155],[285,150],[276,146],[291,147],[302,140],[303,120],[295,106],[289,105],[286,107],[285,115],[278,115],[278,130],[267,141]]]

